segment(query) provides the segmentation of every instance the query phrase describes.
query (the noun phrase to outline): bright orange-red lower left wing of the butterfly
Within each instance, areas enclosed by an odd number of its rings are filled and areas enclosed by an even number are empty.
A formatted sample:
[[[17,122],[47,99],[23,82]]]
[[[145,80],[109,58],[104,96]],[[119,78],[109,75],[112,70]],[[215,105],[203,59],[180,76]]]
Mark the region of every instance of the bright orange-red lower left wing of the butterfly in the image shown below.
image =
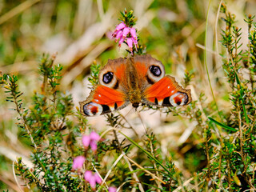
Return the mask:
[[[122,92],[102,85],[96,86],[86,101],[79,102],[80,111],[86,116],[97,116],[113,110],[121,110],[128,103]]]

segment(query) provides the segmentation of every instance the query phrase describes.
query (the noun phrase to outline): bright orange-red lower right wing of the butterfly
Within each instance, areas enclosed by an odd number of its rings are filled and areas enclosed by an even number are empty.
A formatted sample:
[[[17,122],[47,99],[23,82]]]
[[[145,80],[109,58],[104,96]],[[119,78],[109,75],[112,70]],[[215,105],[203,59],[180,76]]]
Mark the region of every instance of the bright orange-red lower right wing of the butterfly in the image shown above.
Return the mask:
[[[166,75],[164,78],[146,88],[142,102],[158,106],[185,106],[192,101],[190,90],[178,85],[175,78]]]

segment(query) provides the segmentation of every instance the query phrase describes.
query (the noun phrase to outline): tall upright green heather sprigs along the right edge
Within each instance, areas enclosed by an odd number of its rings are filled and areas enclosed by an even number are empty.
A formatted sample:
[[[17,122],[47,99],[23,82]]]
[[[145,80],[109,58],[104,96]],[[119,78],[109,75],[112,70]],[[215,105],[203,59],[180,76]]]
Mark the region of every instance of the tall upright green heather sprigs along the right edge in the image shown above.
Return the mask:
[[[227,57],[223,58],[223,69],[232,89],[230,101],[233,109],[230,114],[225,114],[226,123],[223,124],[210,118],[211,122],[221,126],[226,130],[232,130],[228,135],[219,135],[219,148],[213,150],[210,155],[211,161],[209,168],[212,175],[218,175],[217,180],[210,187],[214,189],[229,189],[229,191],[240,191],[254,189],[254,130],[255,130],[255,73],[250,70],[250,81],[244,78],[244,71],[252,66],[250,61],[254,55],[251,49],[253,32],[250,31],[253,26],[253,20],[249,16],[248,23],[249,50],[242,50],[241,28],[234,26],[235,16],[228,12],[226,5],[222,3],[221,11],[224,14],[223,21],[226,23],[226,29],[222,30],[222,45],[226,47]],[[252,30],[254,31],[254,30]],[[244,65],[244,62],[247,62]],[[207,140],[208,141],[208,140]],[[210,142],[210,141],[209,141]],[[210,144],[210,143],[209,143]],[[215,173],[214,173],[215,172]],[[210,176],[210,175],[208,175]],[[210,176],[211,177],[211,176]],[[210,178],[209,177],[209,178]],[[223,182],[223,178],[224,181]],[[221,186],[219,183],[222,183]]]

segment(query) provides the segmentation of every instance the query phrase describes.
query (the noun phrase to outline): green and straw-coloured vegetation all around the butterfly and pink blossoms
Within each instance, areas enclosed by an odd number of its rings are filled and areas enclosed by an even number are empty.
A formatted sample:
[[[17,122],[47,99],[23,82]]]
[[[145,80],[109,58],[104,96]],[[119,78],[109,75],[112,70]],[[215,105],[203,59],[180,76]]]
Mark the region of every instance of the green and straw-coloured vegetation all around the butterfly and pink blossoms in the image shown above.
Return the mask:
[[[249,0],[0,2],[0,190],[256,190],[255,7]],[[100,66],[129,54],[111,39],[125,8],[137,19],[140,54],[161,60],[193,101],[85,118],[78,102],[98,83]],[[93,131],[97,150],[82,144]],[[86,157],[81,170],[78,156]],[[86,170],[102,182],[86,182]]]

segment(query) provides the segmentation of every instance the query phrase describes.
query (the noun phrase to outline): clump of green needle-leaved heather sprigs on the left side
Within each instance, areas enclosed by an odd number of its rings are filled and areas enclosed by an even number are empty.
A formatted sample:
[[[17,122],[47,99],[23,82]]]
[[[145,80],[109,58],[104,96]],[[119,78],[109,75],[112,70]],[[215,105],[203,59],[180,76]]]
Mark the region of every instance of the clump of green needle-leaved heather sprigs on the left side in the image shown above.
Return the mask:
[[[30,138],[34,147],[31,160],[34,168],[29,169],[18,158],[14,166],[16,174],[24,179],[27,186],[39,191],[80,191],[81,178],[74,177],[71,171],[73,154],[78,151],[75,139],[70,147],[66,135],[79,133],[69,116],[74,115],[70,94],[58,91],[62,66],[54,65],[54,58],[43,55],[39,66],[42,86],[34,92],[29,109],[22,108],[22,93],[18,91],[18,77],[3,74],[1,82],[6,88],[6,101],[14,102],[18,112],[18,127],[23,137]],[[83,122],[84,123],[84,122]],[[43,178],[42,178],[43,174]]]

